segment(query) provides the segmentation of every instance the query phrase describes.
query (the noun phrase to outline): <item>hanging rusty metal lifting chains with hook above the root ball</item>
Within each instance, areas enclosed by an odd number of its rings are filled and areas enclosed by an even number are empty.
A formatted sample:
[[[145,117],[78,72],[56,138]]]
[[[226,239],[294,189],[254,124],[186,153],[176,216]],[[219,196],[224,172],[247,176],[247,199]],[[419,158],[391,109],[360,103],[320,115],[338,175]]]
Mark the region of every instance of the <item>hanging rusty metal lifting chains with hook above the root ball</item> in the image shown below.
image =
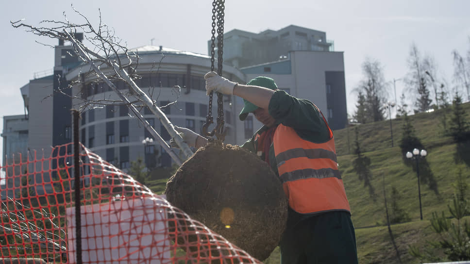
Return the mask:
[[[211,37],[211,71],[214,71],[215,62],[215,33],[216,33],[216,18],[217,18],[217,73],[222,76],[222,63],[223,63],[223,25],[224,25],[224,7],[225,0],[213,0],[212,2],[212,37]],[[217,14],[217,15],[216,15]],[[202,134],[205,136],[214,136],[221,141],[225,138],[224,131],[224,112],[223,112],[223,94],[217,93],[217,125],[212,132],[207,132],[209,125],[214,123],[212,116],[212,100],[213,92],[209,94],[209,110],[207,111],[206,122],[202,125]]]

